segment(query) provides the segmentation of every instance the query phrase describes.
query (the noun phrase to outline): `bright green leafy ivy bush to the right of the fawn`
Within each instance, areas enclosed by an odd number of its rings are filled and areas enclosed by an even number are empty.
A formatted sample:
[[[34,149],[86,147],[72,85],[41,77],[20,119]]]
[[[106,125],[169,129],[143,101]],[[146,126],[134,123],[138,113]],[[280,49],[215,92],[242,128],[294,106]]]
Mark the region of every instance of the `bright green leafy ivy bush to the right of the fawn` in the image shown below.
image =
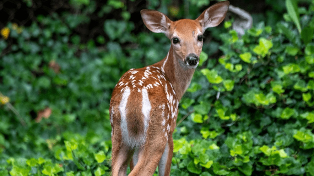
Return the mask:
[[[191,118],[175,134],[174,173],[314,174],[313,4],[301,10],[241,38],[220,34],[223,55],[203,64],[181,101]]]

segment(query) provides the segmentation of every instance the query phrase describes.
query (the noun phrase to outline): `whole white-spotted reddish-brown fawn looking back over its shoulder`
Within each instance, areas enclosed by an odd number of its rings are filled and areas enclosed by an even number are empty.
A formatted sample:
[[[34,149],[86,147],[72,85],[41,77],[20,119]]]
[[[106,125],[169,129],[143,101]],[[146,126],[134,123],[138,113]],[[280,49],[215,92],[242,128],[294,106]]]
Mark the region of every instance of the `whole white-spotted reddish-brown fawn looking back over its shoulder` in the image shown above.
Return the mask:
[[[221,23],[229,2],[206,9],[196,20],[171,21],[155,10],[141,10],[144,24],[171,39],[167,56],[153,65],[130,69],[112,92],[112,175],[169,175],[173,153],[172,133],[178,105],[187,90],[202,51],[206,28]],[[154,47],[154,46],[152,46]]]

